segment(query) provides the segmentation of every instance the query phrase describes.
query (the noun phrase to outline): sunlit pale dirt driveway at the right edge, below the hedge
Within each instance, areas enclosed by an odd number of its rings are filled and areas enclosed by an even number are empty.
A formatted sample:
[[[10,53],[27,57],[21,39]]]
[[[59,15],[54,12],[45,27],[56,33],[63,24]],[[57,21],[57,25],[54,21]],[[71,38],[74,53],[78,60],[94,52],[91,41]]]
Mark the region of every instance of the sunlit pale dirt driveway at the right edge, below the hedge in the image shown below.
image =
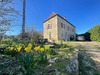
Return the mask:
[[[99,42],[78,42],[87,53],[90,54],[90,57],[96,63],[97,69],[100,71],[100,43]],[[99,48],[97,48],[99,47]]]

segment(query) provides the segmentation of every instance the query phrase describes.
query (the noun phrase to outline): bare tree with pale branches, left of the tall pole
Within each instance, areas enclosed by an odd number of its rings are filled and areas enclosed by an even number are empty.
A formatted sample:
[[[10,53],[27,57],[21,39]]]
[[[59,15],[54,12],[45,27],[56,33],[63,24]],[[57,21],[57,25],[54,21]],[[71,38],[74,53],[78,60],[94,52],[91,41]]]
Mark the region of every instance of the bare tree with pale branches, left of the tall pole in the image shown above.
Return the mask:
[[[11,27],[16,26],[19,11],[14,8],[14,0],[2,0],[0,2],[0,33],[10,31]]]

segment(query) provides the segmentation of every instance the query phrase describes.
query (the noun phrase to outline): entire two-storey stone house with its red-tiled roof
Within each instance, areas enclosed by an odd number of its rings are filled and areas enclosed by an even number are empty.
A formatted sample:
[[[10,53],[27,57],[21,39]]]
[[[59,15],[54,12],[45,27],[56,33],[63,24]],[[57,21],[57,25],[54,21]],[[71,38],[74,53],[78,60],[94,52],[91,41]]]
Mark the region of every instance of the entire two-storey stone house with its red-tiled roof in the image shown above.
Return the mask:
[[[76,40],[75,26],[54,12],[43,22],[43,29],[44,39],[48,41]]]

